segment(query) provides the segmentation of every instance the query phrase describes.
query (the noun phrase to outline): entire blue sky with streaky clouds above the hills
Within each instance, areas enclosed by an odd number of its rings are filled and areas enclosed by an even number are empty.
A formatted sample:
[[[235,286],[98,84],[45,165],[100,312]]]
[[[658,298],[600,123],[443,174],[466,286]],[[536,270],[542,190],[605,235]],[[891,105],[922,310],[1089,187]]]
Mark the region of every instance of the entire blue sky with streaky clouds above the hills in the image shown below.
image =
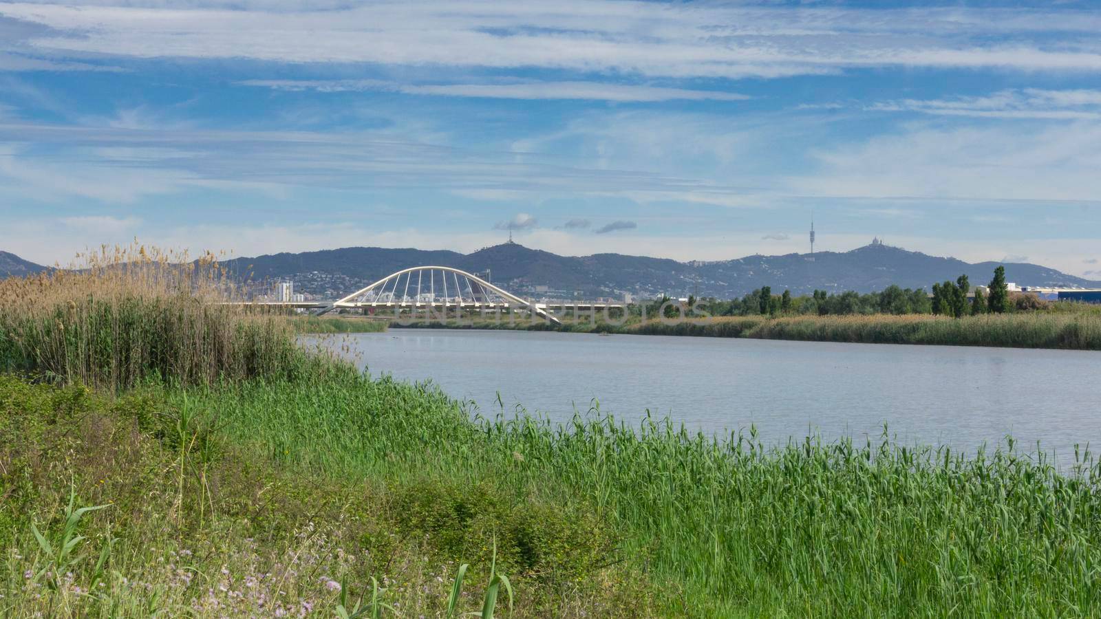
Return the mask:
[[[0,249],[720,260],[1101,279],[1101,3],[0,2]]]

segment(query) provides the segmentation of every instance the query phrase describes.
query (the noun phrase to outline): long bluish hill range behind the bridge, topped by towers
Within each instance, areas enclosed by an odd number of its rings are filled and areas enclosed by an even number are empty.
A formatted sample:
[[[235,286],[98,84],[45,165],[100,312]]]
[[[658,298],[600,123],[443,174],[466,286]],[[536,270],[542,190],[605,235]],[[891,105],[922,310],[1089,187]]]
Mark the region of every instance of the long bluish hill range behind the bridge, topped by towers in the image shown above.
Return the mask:
[[[442,265],[490,271],[494,283],[517,294],[586,297],[669,295],[741,296],[763,285],[793,294],[827,290],[871,292],[891,284],[929,290],[934,282],[967,273],[972,283],[990,281],[998,262],[971,264],[873,243],[846,252],[750,256],[717,262],[597,253],[565,257],[503,243],[464,254],[455,251],[353,247],[304,253],[239,258],[230,269],[253,281],[293,280],[297,292],[337,297],[408,267]],[[1027,263],[1006,263],[1006,279],[1021,285],[1101,287],[1101,282]],[[542,286],[549,289],[544,291]]]

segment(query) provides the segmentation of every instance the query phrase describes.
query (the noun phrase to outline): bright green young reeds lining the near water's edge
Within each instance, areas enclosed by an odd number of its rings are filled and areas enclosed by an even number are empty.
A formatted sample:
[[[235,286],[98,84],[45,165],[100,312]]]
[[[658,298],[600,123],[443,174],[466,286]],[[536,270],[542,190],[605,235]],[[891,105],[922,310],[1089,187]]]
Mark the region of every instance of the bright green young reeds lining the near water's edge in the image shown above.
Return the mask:
[[[691,594],[677,611],[1101,611],[1101,468],[1084,453],[1060,473],[1012,443],[974,454],[886,438],[766,448],[667,420],[471,423],[428,387],[351,377],[207,397],[238,439],[294,468],[490,479],[513,501],[584,506],[619,540],[611,561]]]

